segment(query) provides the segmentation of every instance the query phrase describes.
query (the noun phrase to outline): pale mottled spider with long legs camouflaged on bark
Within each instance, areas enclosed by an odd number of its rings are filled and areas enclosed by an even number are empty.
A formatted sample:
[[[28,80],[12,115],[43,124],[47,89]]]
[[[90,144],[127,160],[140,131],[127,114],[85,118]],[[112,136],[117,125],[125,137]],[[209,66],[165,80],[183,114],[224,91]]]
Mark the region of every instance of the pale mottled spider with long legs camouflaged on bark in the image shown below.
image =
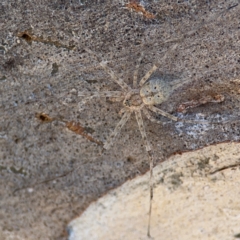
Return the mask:
[[[173,46],[171,50],[175,49],[177,45]],[[140,62],[143,58],[143,52],[139,57],[136,65],[136,69],[133,75],[133,87],[127,85],[123,79],[116,76],[116,74],[109,69],[107,64],[96,56],[96,54],[88,49],[85,50],[91,55],[97,58],[101,67],[111,76],[111,79],[117,83],[122,90],[121,91],[104,91],[104,92],[79,92],[78,96],[84,97],[81,104],[84,104],[86,101],[94,98],[94,97],[110,97],[114,98],[115,101],[122,101],[123,108],[120,113],[122,114],[121,120],[117,123],[114,131],[110,134],[110,136],[105,141],[103,148],[104,150],[108,150],[114,142],[117,134],[121,131],[122,127],[126,124],[128,119],[130,118],[132,113],[135,113],[136,120],[138,123],[139,130],[142,135],[142,139],[144,141],[144,145],[146,151],[148,153],[149,164],[150,164],[150,205],[149,205],[149,220],[148,220],[148,230],[147,234],[150,237],[150,220],[151,220],[151,210],[152,210],[152,199],[153,199],[153,184],[152,184],[152,176],[153,176],[153,152],[151,145],[148,141],[146,130],[143,124],[142,112],[146,115],[146,117],[154,122],[154,123],[162,123],[161,121],[153,118],[150,114],[150,111],[160,114],[164,117],[167,117],[173,121],[179,121],[179,119],[167,112],[160,110],[154,105],[161,104],[166,101],[170,94],[181,85],[186,83],[186,81],[175,80],[172,82],[166,82],[161,78],[153,78],[150,79],[150,76],[157,70],[157,66],[154,65],[140,80],[138,83],[138,69],[140,66]],[[168,51],[169,52],[169,51]],[[166,54],[165,54],[166,56]],[[164,58],[165,58],[164,56]]]

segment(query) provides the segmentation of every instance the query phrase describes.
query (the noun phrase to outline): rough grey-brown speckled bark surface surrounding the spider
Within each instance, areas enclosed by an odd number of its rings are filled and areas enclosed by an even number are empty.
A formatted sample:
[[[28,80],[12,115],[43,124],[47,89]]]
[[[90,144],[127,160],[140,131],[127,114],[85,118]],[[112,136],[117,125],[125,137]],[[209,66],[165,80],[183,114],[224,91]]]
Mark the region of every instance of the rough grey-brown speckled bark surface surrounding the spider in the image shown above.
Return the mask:
[[[66,239],[67,224],[92,201],[149,170],[135,118],[103,155],[101,144],[66,128],[64,121],[77,122],[104,142],[120,120],[122,104],[112,99],[81,105],[80,91],[119,90],[86,47],[129,85],[144,51],[139,79],[156,64],[153,77],[189,80],[157,107],[187,120],[219,123],[173,123],[153,115],[162,125],[144,117],[155,164],[176,152],[239,141],[238,1],[142,1],[154,19],[126,3],[1,1],[3,239]],[[218,94],[224,96],[221,103],[177,111],[180,104]],[[55,120],[44,121],[41,113]]]

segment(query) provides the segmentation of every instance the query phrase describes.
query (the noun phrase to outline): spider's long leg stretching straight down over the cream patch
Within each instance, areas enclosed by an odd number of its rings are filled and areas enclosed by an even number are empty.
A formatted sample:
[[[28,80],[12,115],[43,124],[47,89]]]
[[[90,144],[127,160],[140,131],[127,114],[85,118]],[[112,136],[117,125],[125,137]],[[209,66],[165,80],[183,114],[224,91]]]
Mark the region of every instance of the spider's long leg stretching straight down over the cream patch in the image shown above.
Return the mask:
[[[141,111],[135,111],[135,115],[136,115],[139,130],[141,132],[141,135],[142,135],[142,138],[143,138],[143,141],[144,141],[147,153],[148,153],[148,158],[149,158],[149,166],[150,166],[150,176],[149,176],[150,204],[149,204],[147,235],[148,235],[148,237],[151,237],[150,226],[151,226],[151,213],[152,213],[152,200],[153,200],[153,153],[152,153],[150,143],[147,139],[147,134],[146,134],[146,131],[145,131],[145,127],[143,125],[143,119],[142,119]]]

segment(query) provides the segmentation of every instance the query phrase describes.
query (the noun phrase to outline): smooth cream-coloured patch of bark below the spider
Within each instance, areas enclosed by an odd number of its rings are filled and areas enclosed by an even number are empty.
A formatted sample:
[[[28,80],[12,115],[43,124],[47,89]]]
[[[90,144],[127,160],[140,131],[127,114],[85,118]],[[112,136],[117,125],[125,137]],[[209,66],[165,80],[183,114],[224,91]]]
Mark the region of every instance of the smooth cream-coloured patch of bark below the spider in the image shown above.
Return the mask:
[[[152,239],[239,238],[239,154],[239,144],[218,144],[155,167]],[[148,182],[137,177],[92,203],[69,224],[69,239],[149,239]]]

